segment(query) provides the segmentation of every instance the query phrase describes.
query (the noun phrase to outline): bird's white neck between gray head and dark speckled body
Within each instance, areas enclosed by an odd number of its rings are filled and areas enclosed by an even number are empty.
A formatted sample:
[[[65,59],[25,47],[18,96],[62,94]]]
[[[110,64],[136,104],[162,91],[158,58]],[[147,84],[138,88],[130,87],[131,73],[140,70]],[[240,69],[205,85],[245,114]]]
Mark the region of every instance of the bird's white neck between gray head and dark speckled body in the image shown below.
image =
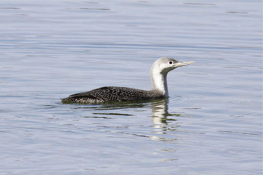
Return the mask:
[[[152,90],[160,91],[164,96],[168,96],[167,73],[160,73],[151,70],[150,72]]]

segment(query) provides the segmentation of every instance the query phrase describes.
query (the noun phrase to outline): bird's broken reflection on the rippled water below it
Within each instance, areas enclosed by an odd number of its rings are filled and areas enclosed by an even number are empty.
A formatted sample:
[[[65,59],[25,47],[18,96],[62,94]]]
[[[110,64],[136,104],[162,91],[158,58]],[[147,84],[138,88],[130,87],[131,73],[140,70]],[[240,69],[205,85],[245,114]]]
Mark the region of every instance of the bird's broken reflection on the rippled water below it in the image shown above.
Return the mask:
[[[173,101],[173,99],[172,99]],[[119,113],[121,111],[129,111],[132,109],[132,111],[146,111],[146,109],[151,109],[151,130],[148,136],[145,135],[144,137],[149,137],[152,140],[158,140],[158,141],[174,141],[175,139],[175,132],[178,130],[178,126],[180,126],[175,121],[177,116],[180,116],[180,114],[170,114],[168,112],[168,104],[169,104],[169,98],[164,99],[155,99],[150,101],[142,101],[140,103],[104,103],[101,105],[76,105],[74,109],[82,109],[84,111],[92,111],[91,116],[85,116],[89,118],[97,118],[98,115],[102,115],[104,118],[111,118],[107,116],[135,116],[135,113],[130,114],[124,114]],[[115,111],[116,112],[110,112]],[[103,112],[100,112],[103,111]],[[93,116],[94,115],[94,116]],[[119,127],[119,126],[117,126]],[[128,127],[128,125],[125,125],[125,127]],[[131,134],[131,133],[125,133],[125,134]],[[134,133],[132,133],[134,134]],[[137,135],[137,134],[135,134]]]

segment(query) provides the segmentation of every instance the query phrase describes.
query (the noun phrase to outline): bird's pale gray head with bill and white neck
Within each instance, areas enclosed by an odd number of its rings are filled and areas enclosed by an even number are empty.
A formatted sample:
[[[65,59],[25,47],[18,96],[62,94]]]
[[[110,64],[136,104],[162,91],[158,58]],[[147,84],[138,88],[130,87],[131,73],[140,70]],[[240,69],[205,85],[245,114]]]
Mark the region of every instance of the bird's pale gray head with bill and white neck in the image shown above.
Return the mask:
[[[167,73],[176,67],[191,64],[195,61],[181,62],[173,58],[159,58],[151,66],[150,78],[152,90],[159,91],[164,96],[168,96]]]

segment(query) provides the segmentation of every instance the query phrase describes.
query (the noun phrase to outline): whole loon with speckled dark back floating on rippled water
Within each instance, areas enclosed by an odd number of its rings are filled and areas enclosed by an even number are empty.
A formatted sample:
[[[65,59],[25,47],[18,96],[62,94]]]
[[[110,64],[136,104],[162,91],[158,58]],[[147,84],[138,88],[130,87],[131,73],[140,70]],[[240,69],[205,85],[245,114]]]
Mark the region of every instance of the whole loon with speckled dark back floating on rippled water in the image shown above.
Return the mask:
[[[130,87],[100,87],[87,92],[69,95],[62,102],[72,103],[101,103],[101,102],[134,102],[165,98],[169,96],[167,74],[177,67],[191,64],[195,61],[181,62],[174,58],[162,57],[157,59],[150,69],[152,89],[142,90]]]

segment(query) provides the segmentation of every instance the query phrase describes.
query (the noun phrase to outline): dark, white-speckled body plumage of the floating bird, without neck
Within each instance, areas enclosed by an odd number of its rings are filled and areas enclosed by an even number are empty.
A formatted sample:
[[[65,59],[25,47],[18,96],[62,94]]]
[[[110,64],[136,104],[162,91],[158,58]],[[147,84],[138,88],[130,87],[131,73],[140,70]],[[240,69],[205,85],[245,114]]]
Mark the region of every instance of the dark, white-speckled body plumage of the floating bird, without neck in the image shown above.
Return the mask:
[[[63,98],[62,101],[99,103],[107,101],[139,101],[162,97],[164,97],[164,94],[153,90],[148,91],[129,87],[100,87],[87,92],[70,95],[67,98]]]

